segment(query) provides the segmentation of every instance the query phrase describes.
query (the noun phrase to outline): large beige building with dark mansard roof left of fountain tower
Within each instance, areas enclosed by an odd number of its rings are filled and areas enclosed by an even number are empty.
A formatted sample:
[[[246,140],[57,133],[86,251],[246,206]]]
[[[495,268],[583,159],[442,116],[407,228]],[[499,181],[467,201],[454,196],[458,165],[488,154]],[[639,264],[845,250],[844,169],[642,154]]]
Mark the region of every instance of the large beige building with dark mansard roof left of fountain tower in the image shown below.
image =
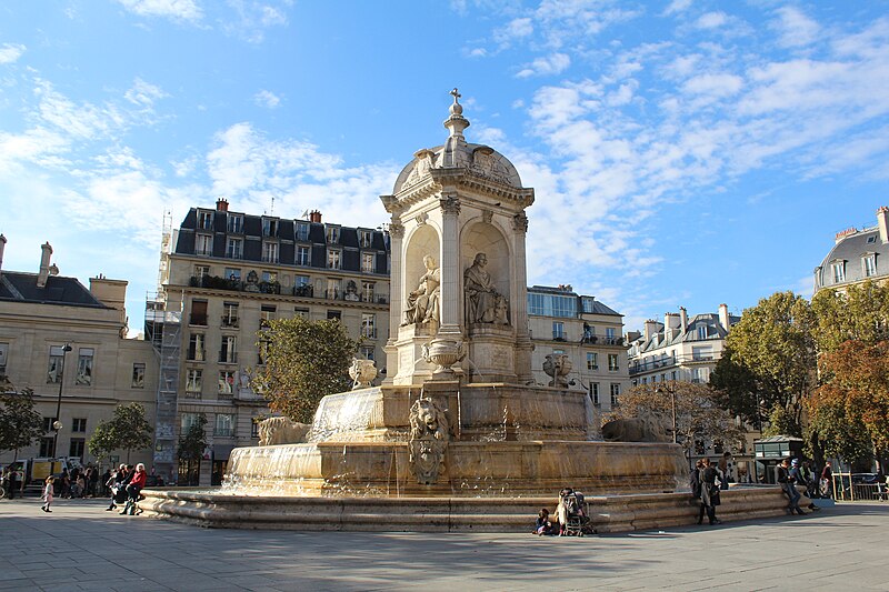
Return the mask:
[[[270,413],[249,388],[262,363],[257,332],[297,314],[340,319],[364,338],[359,357],[383,360],[388,339],[388,234],[309,220],[192,208],[162,254],[161,292],[148,302],[147,335],[161,357],[156,463],[177,464],[179,434],[201,413],[213,481],[230,451],[258,443]],[[383,370],[384,363],[378,363]],[[379,382],[379,379],[378,379]],[[207,465],[207,466],[204,466]],[[209,475],[209,473],[207,473]]]

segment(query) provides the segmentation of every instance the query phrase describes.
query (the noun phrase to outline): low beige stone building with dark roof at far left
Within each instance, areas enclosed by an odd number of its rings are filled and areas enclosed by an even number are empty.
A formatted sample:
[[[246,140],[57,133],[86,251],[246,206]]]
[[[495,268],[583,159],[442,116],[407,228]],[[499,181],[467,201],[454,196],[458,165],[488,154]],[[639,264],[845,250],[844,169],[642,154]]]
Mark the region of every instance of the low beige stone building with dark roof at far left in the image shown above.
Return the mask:
[[[123,337],[127,282],[93,278],[88,290],[58,274],[51,248],[43,247],[37,273],[0,270],[0,374],[16,389],[33,390],[47,427],[43,439],[19,451],[20,459],[52,455],[61,392],[56,455],[90,463],[96,459],[86,442],[118,404],[141,403],[153,423],[157,357],[150,343]],[[114,455],[127,460],[126,451]],[[0,465],[12,458],[0,453]],[[150,466],[151,451],[132,451],[129,460]]]

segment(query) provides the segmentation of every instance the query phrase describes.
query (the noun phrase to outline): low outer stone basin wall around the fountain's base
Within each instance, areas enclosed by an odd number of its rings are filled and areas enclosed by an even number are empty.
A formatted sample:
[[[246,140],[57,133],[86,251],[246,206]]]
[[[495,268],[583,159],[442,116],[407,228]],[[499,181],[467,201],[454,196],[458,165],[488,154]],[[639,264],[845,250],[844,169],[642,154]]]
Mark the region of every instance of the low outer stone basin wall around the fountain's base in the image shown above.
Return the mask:
[[[146,514],[206,528],[299,531],[530,532],[540,508],[556,494],[529,498],[244,496],[219,491],[144,490]],[[723,522],[781,516],[787,498],[779,488],[732,488],[722,492]],[[600,533],[693,524],[698,502],[688,493],[588,495]]]

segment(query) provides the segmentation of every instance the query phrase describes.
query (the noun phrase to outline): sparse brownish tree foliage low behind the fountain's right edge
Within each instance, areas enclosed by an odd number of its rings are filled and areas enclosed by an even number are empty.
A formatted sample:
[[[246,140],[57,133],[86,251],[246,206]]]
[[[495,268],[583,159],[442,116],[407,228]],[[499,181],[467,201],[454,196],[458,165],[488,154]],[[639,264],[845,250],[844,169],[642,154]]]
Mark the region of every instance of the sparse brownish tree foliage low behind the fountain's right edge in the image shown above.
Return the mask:
[[[653,414],[672,430],[672,403],[676,397],[677,442],[691,450],[697,440],[722,441],[740,450],[745,433],[719,404],[718,393],[706,384],[661,382],[639,384],[620,397],[620,405],[609,419]]]

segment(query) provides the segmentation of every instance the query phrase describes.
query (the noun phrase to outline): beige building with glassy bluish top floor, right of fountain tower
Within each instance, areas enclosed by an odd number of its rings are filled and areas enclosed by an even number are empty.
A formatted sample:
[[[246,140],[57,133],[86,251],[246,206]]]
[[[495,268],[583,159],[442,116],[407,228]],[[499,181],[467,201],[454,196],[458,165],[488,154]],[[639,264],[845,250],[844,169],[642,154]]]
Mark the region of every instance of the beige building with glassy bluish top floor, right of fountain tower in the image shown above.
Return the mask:
[[[623,317],[597,301],[578,295],[570,285],[528,289],[528,323],[535,344],[535,381],[551,380],[543,371],[547,355],[568,355],[569,389],[586,390],[593,404],[610,410],[630,387]]]

